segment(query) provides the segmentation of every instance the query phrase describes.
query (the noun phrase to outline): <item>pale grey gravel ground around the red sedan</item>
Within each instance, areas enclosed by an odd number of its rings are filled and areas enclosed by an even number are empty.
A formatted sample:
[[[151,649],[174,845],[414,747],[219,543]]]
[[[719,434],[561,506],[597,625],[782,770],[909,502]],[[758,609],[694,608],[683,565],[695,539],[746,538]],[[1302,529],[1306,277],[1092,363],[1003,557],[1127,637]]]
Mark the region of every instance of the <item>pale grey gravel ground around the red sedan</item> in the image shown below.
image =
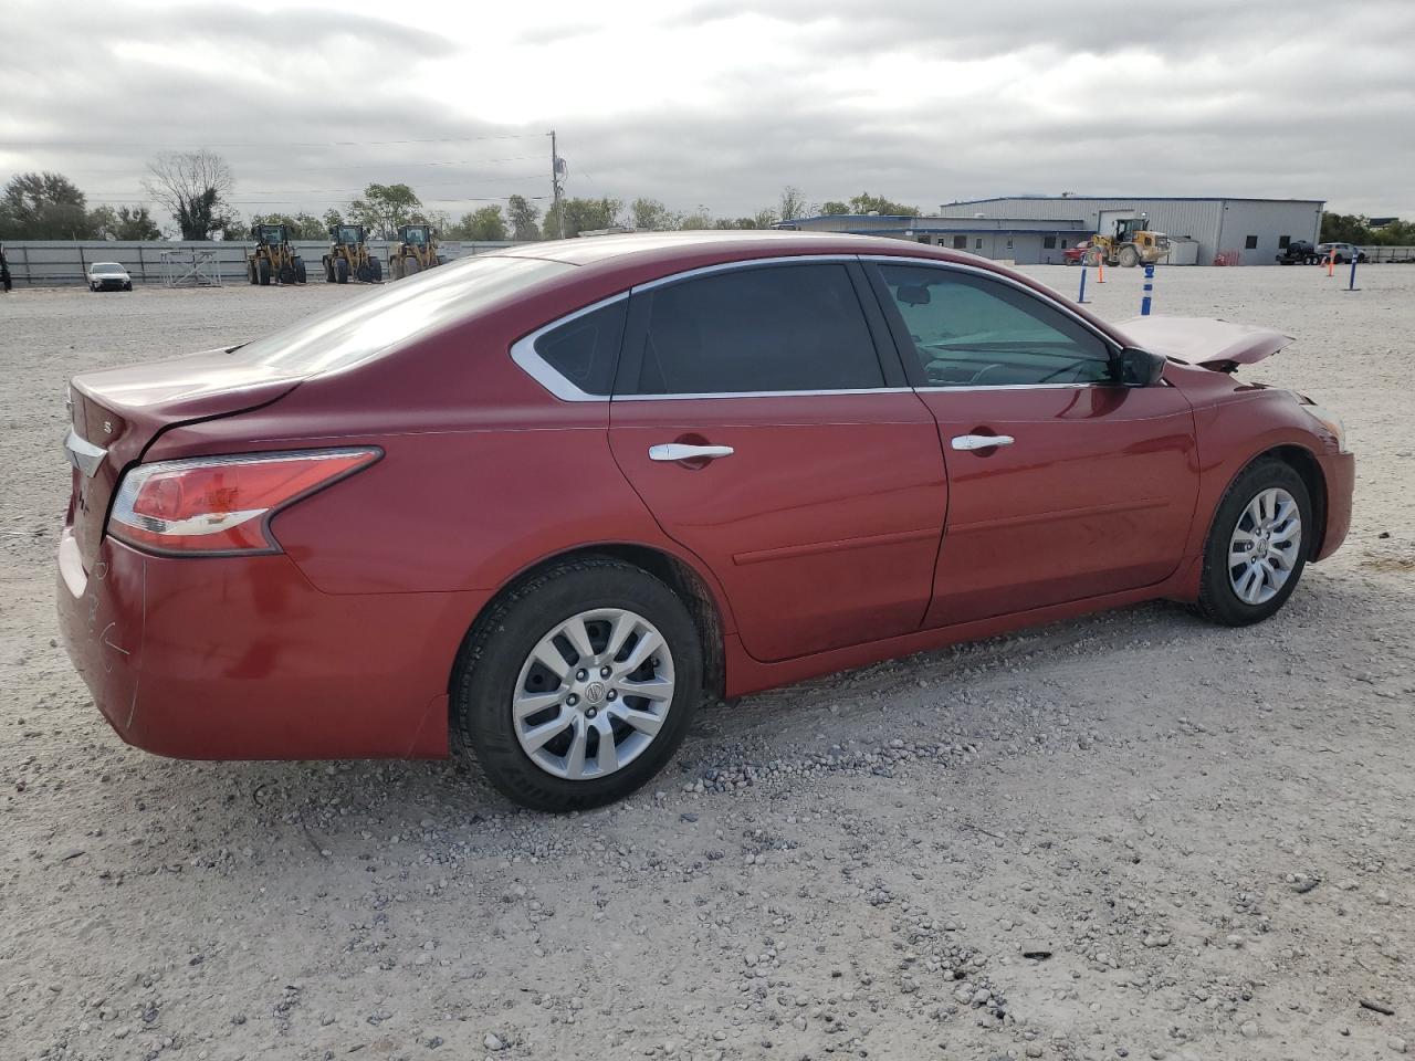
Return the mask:
[[[359,293],[0,297],[0,1055],[1405,1053],[1415,269],[1360,282],[1157,282],[1299,337],[1247,375],[1347,417],[1351,536],[1278,618],[1155,604],[754,696],[566,818],[474,767],[123,746],[55,639],[65,378]],[[1091,293],[1132,315],[1139,274]]]

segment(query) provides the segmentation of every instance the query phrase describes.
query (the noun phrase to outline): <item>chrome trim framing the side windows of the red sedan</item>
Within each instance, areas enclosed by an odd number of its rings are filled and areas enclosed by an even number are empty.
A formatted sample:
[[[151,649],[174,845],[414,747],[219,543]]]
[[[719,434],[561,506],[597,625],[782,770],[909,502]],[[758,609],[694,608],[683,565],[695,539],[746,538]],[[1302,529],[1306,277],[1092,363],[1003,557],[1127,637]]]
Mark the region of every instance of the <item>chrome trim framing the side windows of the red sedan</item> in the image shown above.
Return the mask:
[[[567,313],[563,317],[558,317],[549,324],[542,324],[535,331],[524,335],[511,344],[511,359],[524,371],[528,376],[535,379],[541,386],[549,390],[555,398],[562,402],[608,402],[611,398],[616,402],[692,402],[692,400],[720,400],[732,398],[825,398],[829,395],[907,395],[907,393],[934,393],[934,392],[958,392],[958,390],[1057,390],[1057,389],[1075,389],[1075,388],[1092,388],[1092,386],[1118,386],[1116,383],[1107,382],[1090,382],[1090,383],[995,383],[983,386],[876,386],[876,388],[856,388],[856,389],[841,389],[841,390],[743,390],[743,392],[713,392],[713,393],[699,393],[699,395],[591,395],[583,390],[569,378],[566,378],[559,369],[556,369],[550,362],[536,352],[535,342],[548,331],[559,328],[562,324],[569,324],[577,317],[583,317],[587,313],[594,313],[606,306],[613,306],[614,303],[628,298],[633,294],[641,291],[651,291],[657,287],[665,287],[666,284],[679,283],[682,280],[691,280],[698,276],[710,276],[713,273],[724,273],[736,269],[753,269],[757,266],[777,266],[777,265],[795,265],[807,263],[816,265],[825,262],[839,262],[849,265],[850,262],[873,262],[883,265],[901,265],[901,266],[925,266],[928,269],[941,270],[957,270],[961,273],[972,273],[976,276],[998,280],[1000,283],[1009,284],[1016,290],[1037,298],[1039,301],[1051,306],[1061,313],[1071,317],[1077,324],[1082,325],[1088,332],[1095,335],[1101,342],[1105,344],[1108,349],[1119,352],[1119,344],[1099,331],[1091,321],[1085,320],[1065,303],[1056,298],[1047,298],[1044,294],[1039,293],[1036,289],[1029,287],[1024,283],[1013,280],[1002,273],[995,273],[990,269],[982,269],[979,266],[971,266],[962,262],[944,262],[932,257],[916,257],[911,255],[774,255],[771,257],[747,257],[739,262],[717,262],[710,266],[698,266],[696,269],[685,269],[681,273],[671,273],[669,276],[661,276],[655,280],[648,280],[641,284],[634,284],[625,291],[618,294],[611,294],[608,298],[601,298],[596,303],[590,303],[573,313]]]

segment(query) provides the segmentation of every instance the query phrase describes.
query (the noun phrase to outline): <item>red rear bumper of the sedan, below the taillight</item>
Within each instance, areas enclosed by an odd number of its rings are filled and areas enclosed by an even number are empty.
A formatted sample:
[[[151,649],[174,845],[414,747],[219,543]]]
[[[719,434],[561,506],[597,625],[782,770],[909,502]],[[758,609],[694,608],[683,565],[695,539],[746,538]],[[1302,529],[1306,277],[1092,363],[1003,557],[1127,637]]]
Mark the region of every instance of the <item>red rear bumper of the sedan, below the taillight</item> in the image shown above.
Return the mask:
[[[64,644],[103,717],[180,758],[447,754],[447,679],[487,594],[327,594],[284,555],[59,545]]]

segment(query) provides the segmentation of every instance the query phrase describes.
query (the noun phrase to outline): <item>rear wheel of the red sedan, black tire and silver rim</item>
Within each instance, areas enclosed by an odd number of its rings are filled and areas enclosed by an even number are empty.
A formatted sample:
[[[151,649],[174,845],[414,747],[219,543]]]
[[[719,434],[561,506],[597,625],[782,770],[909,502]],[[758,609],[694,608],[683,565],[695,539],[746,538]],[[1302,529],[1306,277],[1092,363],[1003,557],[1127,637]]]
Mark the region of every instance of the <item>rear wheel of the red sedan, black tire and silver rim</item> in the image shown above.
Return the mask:
[[[621,560],[567,560],[473,628],[453,673],[453,727],[515,802],[599,806],[674,754],[702,669],[698,630],[668,586]]]

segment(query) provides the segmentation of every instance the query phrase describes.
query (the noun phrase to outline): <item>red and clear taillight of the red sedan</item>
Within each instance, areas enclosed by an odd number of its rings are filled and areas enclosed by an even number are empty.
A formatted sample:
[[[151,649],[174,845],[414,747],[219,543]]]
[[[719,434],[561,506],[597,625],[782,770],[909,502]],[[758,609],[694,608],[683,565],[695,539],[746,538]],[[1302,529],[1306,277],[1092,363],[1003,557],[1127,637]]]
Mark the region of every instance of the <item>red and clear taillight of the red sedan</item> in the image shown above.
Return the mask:
[[[117,489],[109,533],[154,552],[275,552],[267,523],[277,509],[381,456],[300,450],[139,464]]]

